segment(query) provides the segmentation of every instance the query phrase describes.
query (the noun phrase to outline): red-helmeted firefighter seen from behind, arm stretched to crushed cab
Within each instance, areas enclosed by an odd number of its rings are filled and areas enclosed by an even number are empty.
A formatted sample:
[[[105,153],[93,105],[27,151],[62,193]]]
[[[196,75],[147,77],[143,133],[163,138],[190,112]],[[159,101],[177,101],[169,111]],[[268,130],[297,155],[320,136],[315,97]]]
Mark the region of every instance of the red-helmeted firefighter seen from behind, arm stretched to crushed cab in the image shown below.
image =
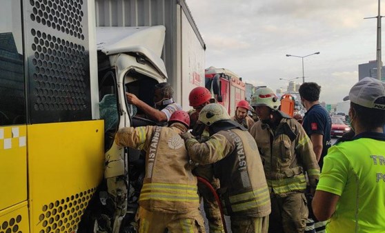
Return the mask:
[[[204,232],[199,211],[197,177],[179,134],[187,132],[190,118],[178,110],[168,127],[122,128],[117,145],[146,151],[146,176],[139,196],[138,232]]]

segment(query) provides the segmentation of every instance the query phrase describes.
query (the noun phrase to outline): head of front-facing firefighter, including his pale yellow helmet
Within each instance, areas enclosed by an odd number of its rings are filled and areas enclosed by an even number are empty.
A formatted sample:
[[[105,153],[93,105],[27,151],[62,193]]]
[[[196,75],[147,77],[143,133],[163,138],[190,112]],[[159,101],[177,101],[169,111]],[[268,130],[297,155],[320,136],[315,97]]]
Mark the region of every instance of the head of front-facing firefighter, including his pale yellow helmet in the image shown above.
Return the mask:
[[[272,118],[272,113],[279,109],[280,102],[273,90],[259,88],[251,97],[250,105],[255,108],[261,121],[267,121]]]

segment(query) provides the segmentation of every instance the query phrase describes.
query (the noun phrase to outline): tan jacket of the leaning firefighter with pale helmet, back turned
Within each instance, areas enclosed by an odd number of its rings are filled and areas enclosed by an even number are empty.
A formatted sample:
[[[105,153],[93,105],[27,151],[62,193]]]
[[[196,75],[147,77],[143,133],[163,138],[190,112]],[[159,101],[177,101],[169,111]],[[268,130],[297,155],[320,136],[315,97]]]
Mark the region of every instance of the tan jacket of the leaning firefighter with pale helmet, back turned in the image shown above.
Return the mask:
[[[262,217],[270,214],[270,194],[253,137],[245,130],[220,130],[204,143],[182,135],[193,161],[214,164],[225,214]]]

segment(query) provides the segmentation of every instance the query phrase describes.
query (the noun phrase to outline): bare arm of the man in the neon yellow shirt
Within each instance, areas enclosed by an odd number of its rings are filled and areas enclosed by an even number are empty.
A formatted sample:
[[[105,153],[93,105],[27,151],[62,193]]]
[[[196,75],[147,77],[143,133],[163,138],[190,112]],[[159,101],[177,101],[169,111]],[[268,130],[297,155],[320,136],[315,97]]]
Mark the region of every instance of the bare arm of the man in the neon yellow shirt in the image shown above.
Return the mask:
[[[330,219],[335,212],[338,200],[339,196],[337,194],[322,190],[315,191],[311,205],[313,207],[313,214],[317,220],[325,221]]]

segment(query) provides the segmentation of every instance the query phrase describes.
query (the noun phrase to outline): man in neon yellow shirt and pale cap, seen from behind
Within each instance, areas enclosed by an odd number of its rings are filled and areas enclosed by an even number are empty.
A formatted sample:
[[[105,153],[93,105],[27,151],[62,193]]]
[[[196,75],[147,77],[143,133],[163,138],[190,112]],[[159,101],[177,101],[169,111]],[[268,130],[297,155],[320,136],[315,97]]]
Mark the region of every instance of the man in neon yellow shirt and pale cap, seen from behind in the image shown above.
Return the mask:
[[[366,77],[349,92],[352,141],[328,150],[313,199],[327,232],[385,230],[385,83]]]

